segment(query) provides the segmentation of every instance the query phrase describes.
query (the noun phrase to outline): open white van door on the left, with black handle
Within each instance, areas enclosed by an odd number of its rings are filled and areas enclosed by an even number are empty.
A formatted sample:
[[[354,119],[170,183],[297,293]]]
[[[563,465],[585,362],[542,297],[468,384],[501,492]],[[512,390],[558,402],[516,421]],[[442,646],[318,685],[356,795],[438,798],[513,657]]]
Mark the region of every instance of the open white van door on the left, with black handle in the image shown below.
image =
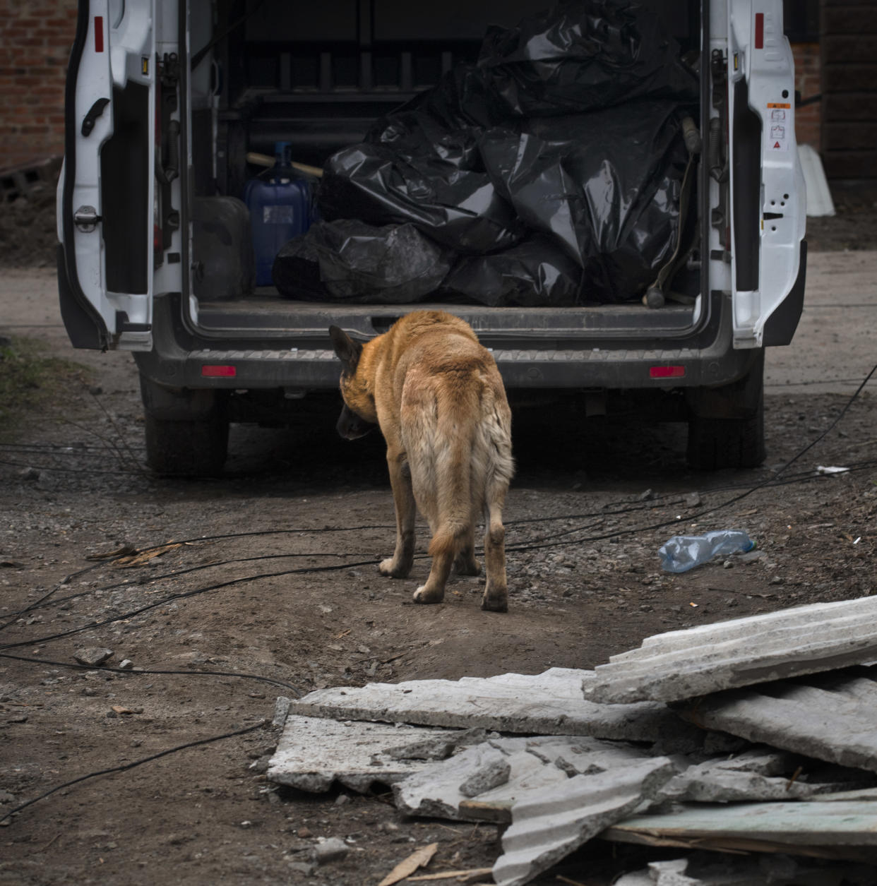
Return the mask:
[[[182,291],[176,7],[79,2],[58,182],[58,289],[76,347],[150,350],[153,291]]]

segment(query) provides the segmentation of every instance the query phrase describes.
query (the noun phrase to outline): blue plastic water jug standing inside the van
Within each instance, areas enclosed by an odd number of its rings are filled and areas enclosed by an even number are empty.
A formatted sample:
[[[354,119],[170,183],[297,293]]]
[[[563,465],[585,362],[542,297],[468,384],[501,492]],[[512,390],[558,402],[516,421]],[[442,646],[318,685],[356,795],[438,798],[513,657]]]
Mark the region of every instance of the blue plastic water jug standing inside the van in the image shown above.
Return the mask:
[[[276,142],[275,164],[244,188],[250,210],[252,248],[256,256],[256,285],[270,286],[276,254],[292,237],[311,224],[312,195],[307,178],[290,166],[290,145]]]

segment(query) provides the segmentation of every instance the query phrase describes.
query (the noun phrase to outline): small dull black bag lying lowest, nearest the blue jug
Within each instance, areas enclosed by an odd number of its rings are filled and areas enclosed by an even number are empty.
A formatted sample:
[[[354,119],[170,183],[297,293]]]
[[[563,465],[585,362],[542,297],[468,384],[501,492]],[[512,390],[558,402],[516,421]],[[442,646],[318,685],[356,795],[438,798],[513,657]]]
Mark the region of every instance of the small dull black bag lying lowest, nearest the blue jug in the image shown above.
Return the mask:
[[[290,299],[407,304],[436,291],[452,259],[410,224],[317,221],[283,246],[272,276]]]

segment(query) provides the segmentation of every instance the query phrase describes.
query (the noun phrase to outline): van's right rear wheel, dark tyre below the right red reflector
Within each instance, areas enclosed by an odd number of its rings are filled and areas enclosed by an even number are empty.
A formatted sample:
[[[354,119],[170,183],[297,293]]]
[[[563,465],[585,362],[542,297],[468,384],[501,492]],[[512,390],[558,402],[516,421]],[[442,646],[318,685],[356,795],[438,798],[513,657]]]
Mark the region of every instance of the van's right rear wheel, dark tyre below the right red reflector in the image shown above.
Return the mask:
[[[699,407],[688,418],[688,464],[694,470],[757,468],[764,462],[763,356],[739,382],[692,392],[692,400]]]

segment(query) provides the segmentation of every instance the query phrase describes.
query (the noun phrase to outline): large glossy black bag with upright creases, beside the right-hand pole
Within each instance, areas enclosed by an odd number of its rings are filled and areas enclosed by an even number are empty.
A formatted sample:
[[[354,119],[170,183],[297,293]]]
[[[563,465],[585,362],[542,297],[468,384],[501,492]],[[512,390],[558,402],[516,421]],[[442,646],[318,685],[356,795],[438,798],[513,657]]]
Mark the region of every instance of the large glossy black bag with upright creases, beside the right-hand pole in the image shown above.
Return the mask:
[[[584,299],[638,297],[675,249],[688,159],[675,112],[633,102],[485,133],[497,190],[583,268]]]

